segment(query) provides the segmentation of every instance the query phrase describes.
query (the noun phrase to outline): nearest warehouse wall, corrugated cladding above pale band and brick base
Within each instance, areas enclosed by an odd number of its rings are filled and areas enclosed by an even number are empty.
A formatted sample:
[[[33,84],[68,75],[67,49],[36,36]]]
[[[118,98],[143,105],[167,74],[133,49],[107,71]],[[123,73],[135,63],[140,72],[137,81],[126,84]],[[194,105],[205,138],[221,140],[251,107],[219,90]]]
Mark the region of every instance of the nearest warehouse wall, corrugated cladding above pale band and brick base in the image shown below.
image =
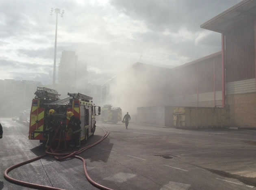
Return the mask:
[[[254,23],[225,33],[226,104],[233,127],[256,128]]]

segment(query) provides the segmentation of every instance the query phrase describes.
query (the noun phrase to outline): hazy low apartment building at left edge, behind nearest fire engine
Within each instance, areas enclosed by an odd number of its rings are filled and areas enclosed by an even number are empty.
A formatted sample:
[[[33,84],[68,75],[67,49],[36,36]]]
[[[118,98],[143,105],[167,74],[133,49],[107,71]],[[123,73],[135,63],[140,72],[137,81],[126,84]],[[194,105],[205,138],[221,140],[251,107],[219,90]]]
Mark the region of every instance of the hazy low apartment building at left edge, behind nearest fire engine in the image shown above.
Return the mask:
[[[18,116],[31,107],[32,99],[41,82],[31,80],[0,80],[0,116]]]

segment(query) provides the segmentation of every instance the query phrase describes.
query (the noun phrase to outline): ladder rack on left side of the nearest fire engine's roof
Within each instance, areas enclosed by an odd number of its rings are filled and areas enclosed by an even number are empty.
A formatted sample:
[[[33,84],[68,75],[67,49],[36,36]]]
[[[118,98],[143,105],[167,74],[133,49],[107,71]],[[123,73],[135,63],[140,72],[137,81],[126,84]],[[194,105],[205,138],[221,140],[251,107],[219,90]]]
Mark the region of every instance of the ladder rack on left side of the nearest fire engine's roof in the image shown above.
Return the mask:
[[[50,99],[50,100],[59,100],[60,94],[54,89],[49,89],[46,87],[37,87],[37,91],[35,92],[35,98],[38,99]]]

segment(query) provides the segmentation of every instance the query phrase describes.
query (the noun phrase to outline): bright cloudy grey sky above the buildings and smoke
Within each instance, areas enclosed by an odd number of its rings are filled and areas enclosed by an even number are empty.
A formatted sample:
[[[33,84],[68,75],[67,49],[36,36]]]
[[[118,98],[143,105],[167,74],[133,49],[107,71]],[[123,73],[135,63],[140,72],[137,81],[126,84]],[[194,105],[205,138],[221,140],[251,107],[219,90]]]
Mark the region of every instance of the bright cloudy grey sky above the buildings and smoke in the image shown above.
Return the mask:
[[[221,50],[221,36],[200,24],[240,0],[0,0],[0,79],[52,81],[76,51],[95,76],[108,78],[141,61],[172,68]],[[141,57],[141,58],[140,58]],[[58,68],[57,68],[58,70]]]

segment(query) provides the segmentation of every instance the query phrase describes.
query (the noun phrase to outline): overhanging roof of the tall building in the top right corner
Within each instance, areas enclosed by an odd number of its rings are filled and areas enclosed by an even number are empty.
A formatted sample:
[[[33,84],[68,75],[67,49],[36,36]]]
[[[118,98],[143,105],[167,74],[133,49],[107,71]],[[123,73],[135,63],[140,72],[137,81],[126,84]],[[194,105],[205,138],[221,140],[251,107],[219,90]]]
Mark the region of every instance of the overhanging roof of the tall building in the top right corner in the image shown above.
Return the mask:
[[[222,33],[253,18],[256,18],[256,0],[243,0],[206,21],[200,27]]]

